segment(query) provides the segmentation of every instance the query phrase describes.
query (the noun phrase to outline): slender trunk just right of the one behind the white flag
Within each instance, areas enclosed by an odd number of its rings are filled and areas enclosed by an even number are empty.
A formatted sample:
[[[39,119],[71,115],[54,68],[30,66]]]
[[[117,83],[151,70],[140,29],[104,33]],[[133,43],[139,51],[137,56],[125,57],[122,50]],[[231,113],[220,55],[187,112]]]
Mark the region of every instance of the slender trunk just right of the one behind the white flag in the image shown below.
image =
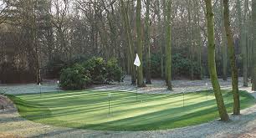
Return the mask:
[[[150,0],[146,0],[146,84],[151,84]]]

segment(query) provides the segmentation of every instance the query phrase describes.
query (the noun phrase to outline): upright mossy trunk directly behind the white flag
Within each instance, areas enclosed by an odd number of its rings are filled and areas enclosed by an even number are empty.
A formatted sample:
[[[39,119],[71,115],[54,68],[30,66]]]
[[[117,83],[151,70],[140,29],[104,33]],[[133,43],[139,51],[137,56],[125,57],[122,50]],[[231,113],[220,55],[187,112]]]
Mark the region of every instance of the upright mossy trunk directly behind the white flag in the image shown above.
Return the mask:
[[[142,58],[142,40],[141,40],[141,0],[137,0],[136,5],[136,31],[137,31],[137,53],[141,60],[141,66],[137,70],[138,87],[144,87],[143,80],[143,58]]]

